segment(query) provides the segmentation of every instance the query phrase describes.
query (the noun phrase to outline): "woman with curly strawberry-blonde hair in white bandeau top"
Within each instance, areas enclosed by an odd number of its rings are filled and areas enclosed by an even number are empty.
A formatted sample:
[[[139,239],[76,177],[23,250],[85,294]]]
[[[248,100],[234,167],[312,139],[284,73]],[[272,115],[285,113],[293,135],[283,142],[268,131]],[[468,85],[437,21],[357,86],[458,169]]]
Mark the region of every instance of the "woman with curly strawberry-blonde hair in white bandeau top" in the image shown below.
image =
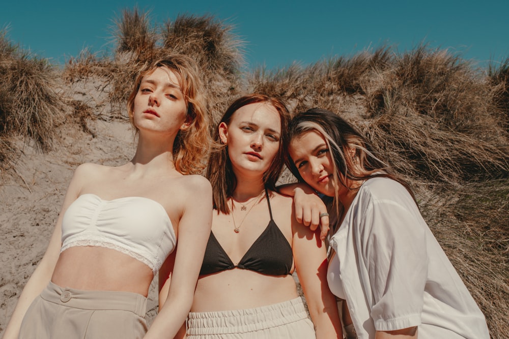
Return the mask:
[[[210,183],[193,175],[210,140],[202,90],[187,56],[142,69],[127,106],[134,157],[119,167],[78,166],[4,338],[141,338],[149,286],[163,262],[174,284],[145,337],[175,335],[191,307],[212,219]]]

